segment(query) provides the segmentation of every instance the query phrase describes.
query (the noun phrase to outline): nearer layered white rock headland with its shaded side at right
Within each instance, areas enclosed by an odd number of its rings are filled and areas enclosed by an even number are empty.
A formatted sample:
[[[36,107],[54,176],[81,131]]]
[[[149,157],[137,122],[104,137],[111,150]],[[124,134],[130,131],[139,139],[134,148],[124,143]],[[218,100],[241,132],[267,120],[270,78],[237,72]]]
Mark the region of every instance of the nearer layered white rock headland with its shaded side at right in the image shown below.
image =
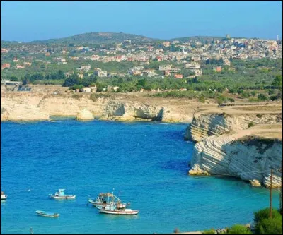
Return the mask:
[[[238,138],[224,134],[211,136],[195,145],[189,174],[236,176],[258,186],[270,186],[270,169],[279,169],[282,142],[255,137]],[[272,187],[280,187],[278,171],[273,171]]]

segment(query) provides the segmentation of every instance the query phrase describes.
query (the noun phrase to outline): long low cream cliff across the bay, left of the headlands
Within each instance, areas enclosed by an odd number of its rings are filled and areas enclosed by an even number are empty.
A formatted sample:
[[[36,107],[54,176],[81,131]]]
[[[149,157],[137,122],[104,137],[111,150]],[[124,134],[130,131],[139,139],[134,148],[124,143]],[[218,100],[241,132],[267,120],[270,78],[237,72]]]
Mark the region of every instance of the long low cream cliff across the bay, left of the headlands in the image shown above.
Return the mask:
[[[47,120],[50,116],[77,116],[84,119],[88,110],[93,116],[115,121],[166,121],[190,122],[191,115],[174,106],[166,107],[136,101],[120,101],[112,98],[98,98],[93,101],[89,95],[46,95],[44,93],[1,94],[1,121]],[[88,114],[88,118],[91,116]],[[87,119],[88,119],[87,118]]]

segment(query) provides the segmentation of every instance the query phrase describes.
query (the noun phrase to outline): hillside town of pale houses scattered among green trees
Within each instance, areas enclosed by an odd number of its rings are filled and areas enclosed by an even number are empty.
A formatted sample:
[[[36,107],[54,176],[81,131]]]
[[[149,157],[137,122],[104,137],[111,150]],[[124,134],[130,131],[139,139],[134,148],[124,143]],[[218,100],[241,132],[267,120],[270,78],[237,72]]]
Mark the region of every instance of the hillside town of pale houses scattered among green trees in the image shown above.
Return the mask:
[[[57,69],[64,71],[67,78],[74,73],[79,78],[92,74],[99,78],[193,78],[202,76],[202,65],[212,60],[219,61],[212,70],[221,72],[224,67],[234,70],[232,60],[282,59],[282,40],[233,38],[230,35],[210,41],[190,38],[163,42],[124,40],[93,45],[1,42],[1,80],[9,80],[11,73],[23,76],[24,73]],[[108,68],[107,64],[111,66]]]

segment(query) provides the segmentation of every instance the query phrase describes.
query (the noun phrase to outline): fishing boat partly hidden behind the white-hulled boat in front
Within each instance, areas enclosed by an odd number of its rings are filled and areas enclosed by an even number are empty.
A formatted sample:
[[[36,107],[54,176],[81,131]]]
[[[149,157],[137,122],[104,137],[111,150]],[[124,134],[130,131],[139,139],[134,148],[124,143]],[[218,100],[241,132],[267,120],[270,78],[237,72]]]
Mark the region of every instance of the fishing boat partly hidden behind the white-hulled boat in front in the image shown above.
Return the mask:
[[[111,200],[117,208],[122,209],[127,207],[127,203],[122,203],[120,198],[117,198],[113,193],[99,193],[98,197],[94,200],[89,198],[88,203],[94,206],[105,207],[107,202]]]

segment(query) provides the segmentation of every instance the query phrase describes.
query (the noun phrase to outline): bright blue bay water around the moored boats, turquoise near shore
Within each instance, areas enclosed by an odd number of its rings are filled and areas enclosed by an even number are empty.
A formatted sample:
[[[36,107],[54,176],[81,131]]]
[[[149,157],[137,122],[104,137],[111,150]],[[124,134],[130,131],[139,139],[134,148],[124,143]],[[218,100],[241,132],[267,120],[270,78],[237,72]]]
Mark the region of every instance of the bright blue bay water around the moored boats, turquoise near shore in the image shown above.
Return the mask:
[[[246,224],[269,191],[236,179],[187,176],[187,125],[1,123],[1,234],[153,234]],[[76,200],[48,198],[58,188]],[[139,215],[103,215],[88,197],[112,192]],[[275,207],[278,191],[273,192]],[[60,213],[39,217],[35,210]]]

